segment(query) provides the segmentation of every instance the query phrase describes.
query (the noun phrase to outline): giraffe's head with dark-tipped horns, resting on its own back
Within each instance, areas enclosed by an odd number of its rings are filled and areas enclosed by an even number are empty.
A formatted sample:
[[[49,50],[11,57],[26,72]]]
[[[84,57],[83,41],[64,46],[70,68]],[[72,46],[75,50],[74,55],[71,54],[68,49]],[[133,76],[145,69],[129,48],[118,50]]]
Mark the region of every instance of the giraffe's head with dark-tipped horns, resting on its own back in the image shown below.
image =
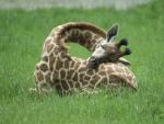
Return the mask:
[[[106,40],[99,42],[94,53],[89,59],[89,67],[95,68],[101,63],[116,63],[120,57],[130,55],[131,50],[128,48],[128,41],[126,38],[115,42],[115,36],[118,34],[118,25],[113,25],[106,34]],[[121,50],[121,46],[126,46]]]

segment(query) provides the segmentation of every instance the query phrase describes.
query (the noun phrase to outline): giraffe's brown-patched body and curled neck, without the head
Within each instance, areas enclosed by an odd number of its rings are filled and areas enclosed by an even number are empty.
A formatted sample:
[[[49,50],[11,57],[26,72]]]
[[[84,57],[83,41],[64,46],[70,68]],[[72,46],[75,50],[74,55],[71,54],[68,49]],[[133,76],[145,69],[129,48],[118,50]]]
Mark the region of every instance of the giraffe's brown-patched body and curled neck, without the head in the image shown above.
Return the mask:
[[[98,69],[89,69],[89,59],[71,57],[67,42],[78,43],[90,52],[106,38],[104,30],[86,22],[69,22],[55,27],[45,40],[40,60],[35,66],[36,90],[42,94],[51,90],[59,94],[78,91],[108,90],[126,83],[138,84],[133,72],[122,63],[103,63]]]

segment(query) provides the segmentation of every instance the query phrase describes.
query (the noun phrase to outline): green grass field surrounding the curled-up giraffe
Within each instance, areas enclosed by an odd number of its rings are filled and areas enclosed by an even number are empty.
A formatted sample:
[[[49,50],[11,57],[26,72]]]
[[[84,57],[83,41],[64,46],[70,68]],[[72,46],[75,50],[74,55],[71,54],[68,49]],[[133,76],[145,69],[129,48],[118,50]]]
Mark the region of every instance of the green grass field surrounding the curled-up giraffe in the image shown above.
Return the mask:
[[[127,37],[139,90],[94,95],[39,97],[34,66],[52,27],[87,21],[105,30],[120,25],[117,40]],[[164,124],[164,1],[128,11],[107,9],[0,10],[0,124]],[[71,54],[90,53],[71,47]]]

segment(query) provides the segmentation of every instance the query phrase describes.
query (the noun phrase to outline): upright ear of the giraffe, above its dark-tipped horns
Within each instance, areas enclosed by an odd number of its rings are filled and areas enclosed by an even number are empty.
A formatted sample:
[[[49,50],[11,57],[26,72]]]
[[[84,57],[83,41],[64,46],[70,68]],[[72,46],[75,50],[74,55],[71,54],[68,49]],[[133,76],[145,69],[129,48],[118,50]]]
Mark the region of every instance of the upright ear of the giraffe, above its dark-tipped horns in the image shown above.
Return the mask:
[[[118,34],[118,24],[114,24],[107,32],[107,42],[114,38]]]

